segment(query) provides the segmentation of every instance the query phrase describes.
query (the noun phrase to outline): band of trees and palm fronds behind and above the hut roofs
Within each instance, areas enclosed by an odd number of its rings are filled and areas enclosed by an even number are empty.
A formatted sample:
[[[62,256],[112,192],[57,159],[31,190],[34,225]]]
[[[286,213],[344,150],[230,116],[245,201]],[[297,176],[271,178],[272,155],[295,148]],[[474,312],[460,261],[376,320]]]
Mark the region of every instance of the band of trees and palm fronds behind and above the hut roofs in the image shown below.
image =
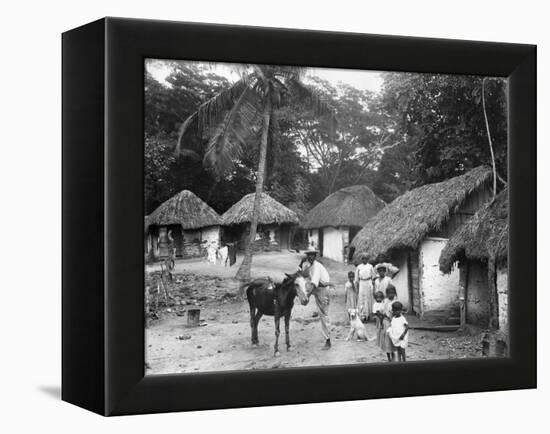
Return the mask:
[[[304,79],[294,67],[241,65],[235,82],[206,63],[162,65],[170,70],[162,83],[145,76],[147,214],[184,189],[220,214],[254,191],[265,92],[273,110],[263,184],[300,217],[344,187],[367,185],[389,203],[415,187],[490,165],[482,77],[383,73],[383,86],[373,93]],[[505,181],[505,81],[486,79],[486,103]]]

